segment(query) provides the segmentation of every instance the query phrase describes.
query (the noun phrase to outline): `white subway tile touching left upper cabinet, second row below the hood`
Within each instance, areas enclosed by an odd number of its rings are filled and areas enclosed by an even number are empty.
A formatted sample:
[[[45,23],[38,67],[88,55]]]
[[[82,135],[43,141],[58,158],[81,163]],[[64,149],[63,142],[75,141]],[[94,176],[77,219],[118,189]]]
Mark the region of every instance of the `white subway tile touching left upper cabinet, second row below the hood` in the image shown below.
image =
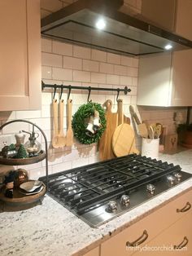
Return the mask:
[[[52,53],[41,53],[41,64],[43,66],[59,67],[62,68],[62,56]]]

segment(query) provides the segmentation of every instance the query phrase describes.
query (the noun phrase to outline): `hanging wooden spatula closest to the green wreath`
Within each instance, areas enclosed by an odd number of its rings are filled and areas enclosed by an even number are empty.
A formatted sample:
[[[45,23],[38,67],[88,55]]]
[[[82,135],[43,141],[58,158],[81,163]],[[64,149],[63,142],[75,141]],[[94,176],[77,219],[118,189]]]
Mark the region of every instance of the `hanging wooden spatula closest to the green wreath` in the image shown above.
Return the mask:
[[[67,130],[67,133],[66,133],[66,146],[70,147],[73,144],[72,99],[68,99],[68,102],[67,102],[67,114],[68,114],[68,130]]]

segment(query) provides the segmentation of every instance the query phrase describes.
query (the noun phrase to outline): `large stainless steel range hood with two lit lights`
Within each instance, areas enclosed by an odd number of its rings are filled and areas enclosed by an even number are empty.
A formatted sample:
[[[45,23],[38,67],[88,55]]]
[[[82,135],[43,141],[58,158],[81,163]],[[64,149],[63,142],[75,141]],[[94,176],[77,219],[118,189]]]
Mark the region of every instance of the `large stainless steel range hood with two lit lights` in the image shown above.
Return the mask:
[[[46,38],[122,55],[147,55],[192,48],[192,42],[119,11],[123,0],[78,0],[41,20]],[[104,29],[97,29],[99,19]]]

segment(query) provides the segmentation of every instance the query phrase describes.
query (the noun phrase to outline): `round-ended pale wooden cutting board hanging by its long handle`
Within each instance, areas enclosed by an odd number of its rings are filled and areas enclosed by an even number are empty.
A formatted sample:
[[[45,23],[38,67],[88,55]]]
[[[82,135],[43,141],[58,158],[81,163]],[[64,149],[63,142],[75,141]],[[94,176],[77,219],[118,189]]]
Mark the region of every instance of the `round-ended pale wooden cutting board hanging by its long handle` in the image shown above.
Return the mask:
[[[138,153],[135,146],[135,134],[133,128],[123,123],[123,101],[118,101],[118,124],[112,136],[112,149],[116,157],[123,157],[131,153]],[[129,119],[125,119],[129,121]]]

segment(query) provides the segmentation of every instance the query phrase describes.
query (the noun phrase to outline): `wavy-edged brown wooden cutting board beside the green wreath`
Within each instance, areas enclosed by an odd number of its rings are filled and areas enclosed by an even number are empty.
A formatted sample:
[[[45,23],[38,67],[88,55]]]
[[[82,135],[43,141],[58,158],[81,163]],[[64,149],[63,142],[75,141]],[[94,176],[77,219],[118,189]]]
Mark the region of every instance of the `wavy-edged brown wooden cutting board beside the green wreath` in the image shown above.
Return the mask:
[[[117,113],[112,113],[112,101],[107,99],[106,103],[107,127],[98,143],[99,159],[101,161],[116,157],[111,148],[111,140],[117,126]]]

